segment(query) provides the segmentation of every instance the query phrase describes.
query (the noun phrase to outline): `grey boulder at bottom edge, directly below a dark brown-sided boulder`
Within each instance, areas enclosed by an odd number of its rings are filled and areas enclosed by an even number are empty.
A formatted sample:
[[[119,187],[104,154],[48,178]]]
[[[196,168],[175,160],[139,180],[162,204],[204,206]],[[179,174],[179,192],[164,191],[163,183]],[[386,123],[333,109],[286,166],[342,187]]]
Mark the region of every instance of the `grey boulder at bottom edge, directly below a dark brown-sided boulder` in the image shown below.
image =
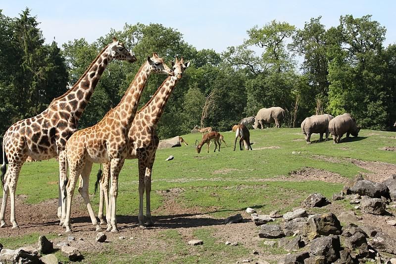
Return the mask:
[[[338,236],[325,236],[315,238],[311,242],[310,256],[325,256],[327,262],[335,262],[340,257],[340,238]]]

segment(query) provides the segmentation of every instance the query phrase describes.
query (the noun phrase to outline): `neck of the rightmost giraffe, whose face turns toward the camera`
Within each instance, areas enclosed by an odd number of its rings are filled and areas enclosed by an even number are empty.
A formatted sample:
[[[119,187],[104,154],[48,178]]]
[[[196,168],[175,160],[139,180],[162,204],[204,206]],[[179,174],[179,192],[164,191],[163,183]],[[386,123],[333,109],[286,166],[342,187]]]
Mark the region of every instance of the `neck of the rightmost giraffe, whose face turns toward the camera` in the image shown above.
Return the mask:
[[[143,112],[145,116],[150,116],[150,120],[148,120],[149,126],[156,126],[159,119],[161,118],[162,113],[164,112],[166,103],[170,95],[173,92],[177,84],[176,76],[169,76],[165,79],[165,81],[158,87],[155,94],[150,98],[148,103],[142,107],[139,112]]]

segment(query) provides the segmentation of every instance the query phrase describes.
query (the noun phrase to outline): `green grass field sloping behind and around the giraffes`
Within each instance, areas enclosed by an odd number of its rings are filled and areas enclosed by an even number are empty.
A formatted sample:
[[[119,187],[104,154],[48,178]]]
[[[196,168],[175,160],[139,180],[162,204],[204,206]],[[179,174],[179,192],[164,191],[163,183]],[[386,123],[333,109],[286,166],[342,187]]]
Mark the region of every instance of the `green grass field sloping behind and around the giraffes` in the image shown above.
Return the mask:
[[[356,166],[348,158],[396,163],[394,152],[381,150],[383,147],[396,146],[395,132],[362,130],[359,137],[352,137],[336,145],[333,141],[307,145],[297,128],[267,128],[250,130],[250,133],[250,139],[254,142],[253,151],[239,151],[237,146],[234,152],[233,132],[221,133],[228,148],[222,144],[220,152],[213,153],[212,145],[209,153],[206,153],[204,146],[201,153],[197,154],[194,142],[200,140],[200,134],[183,135],[189,146],[158,150],[152,172],[151,211],[154,222],[156,216],[170,213],[167,212],[170,195],[174,195],[172,203],[175,203],[179,212],[194,208],[211,219],[223,219],[243,212],[247,207],[255,208],[261,213],[274,210],[283,213],[297,207],[312,192],[321,193],[330,199],[344,185],[341,182],[325,182],[314,178],[296,181],[290,176],[293,171],[311,167],[352,179],[359,172],[369,171]],[[312,142],[317,139],[317,135],[311,137]],[[175,158],[165,161],[169,155]],[[334,162],[334,158],[339,159],[338,162]],[[98,169],[99,164],[94,164],[90,193],[93,193]],[[139,205],[137,175],[137,160],[127,160],[119,178],[118,215],[133,216],[136,219]],[[27,204],[55,199],[58,196],[57,177],[57,163],[54,160],[25,163],[19,177],[17,194],[26,195]],[[76,196],[79,194],[76,193]],[[98,200],[98,195],[92,196],[96,212]],[[22,208],[16,208],[17,212],[20,210]],[[9,222],[9,218],[6,220]],[[157,243],[166,244],[166,247],[158,247],[154,253],[150,247],[147,251],[135,251],[136,245],[131,241],[125,242],[125,247],[129,248],[125,254],[117,251],[113,243],[109,243],[99,253],[82,249],[86,257],[84,262],[235,263],[250,254],[243,238],[237,247],[225,246],[216,235],[218,230],[208,225],[191,230],[157,230],[155,238],[150,237],[148,240],[155,239]],[[186,232],[187,237],[204,240],[204,245],[192,249],[186,244]],[[27,234],[26,237],[4,237],[0,230],[0,242],[5,247],[16,248],[37,241],[35,239],[38,235],[34,233]],[[265,251],[261,242],[258,246],[260,245]],[[60,256],[60,253],[57,254]]]

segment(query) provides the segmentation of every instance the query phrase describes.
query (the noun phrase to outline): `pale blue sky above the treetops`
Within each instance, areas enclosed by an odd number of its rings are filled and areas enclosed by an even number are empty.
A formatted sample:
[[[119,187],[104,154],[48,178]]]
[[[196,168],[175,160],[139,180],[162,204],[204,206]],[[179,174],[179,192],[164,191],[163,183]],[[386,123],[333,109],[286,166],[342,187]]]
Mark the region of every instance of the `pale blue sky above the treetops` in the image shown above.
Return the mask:
[[[200,0],[200,1],[103,1],[103,0],[2,0],[3,14],[18,16],[25,7],[41,22],[39,27],[47,42],[55,37],[61,45],[85,38],[93,42],[109,32],[122,29],[125,23],[160,23],[181,32],[184,40],[198,50],[223,52],[242,44],[246,31],[271,20],[285,21],[302,28],[311,17],[322,16],[327,28],[339,24],[340,15],[373,20],[387,28],[385,45],[396,43],[396,1],[368,0]]]

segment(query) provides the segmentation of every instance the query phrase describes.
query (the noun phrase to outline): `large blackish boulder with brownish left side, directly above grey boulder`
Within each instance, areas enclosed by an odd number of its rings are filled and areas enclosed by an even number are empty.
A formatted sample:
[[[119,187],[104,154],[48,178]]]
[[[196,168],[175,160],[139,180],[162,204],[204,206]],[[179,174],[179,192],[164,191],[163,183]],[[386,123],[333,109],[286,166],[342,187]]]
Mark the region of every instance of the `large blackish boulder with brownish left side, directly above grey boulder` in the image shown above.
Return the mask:
[[[333,213],[322,213],[308,219],[309,238],[313,239],[321,235],[340,235],[341,223]]]

